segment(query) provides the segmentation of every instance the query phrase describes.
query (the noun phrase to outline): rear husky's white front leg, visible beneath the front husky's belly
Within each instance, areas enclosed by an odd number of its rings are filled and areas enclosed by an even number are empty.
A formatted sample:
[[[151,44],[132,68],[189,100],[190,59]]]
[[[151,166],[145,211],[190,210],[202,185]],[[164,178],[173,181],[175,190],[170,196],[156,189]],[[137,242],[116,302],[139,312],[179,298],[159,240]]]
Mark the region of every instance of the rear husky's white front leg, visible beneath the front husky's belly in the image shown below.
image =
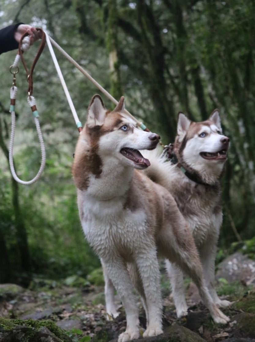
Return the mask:
[[[176,264],[170,263],[168,259],[165,260],[166,271],[171,281],[171,288],[176,307],[176,315],[178,318],[188,315],[188,306],[185,299],[183,273]]]

